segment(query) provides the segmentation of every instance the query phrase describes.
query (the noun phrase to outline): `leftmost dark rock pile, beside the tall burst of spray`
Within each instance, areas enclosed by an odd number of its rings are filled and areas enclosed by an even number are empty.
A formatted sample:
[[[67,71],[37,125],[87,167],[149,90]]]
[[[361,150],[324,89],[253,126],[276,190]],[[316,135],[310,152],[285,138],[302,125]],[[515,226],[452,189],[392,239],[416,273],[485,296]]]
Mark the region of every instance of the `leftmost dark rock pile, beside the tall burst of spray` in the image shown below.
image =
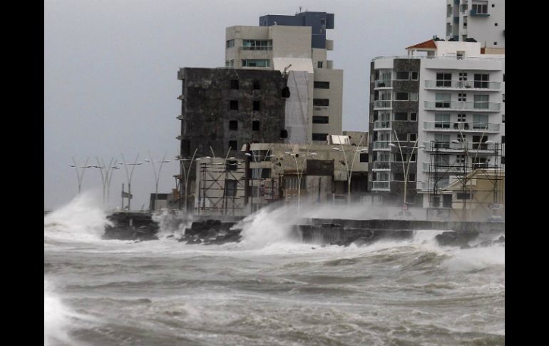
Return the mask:
[[[107,216],[112,225],[105,227],[103,239],[158,240],[158,223],[148,213],[113,213]]]

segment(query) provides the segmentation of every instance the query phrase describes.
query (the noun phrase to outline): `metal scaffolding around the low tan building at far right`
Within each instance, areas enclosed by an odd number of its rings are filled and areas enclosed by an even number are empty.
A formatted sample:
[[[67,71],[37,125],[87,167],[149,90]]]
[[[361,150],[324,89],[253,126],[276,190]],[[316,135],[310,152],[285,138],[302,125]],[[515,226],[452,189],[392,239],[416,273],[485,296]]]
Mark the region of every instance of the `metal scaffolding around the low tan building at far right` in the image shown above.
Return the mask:
[[[457,156],[453,163],[451,156]],[[504,160],[502,143],[461,142],[458,148],[451,148],[451,143],[431,141],[427,186],[429,207],[439,208],[441,195],[448,195],[451,199],[443,200],[443,207],[452,208],[451,212],[461,220],[470,220],[473,210],[478,208],[490,218],[498,216],[498,210],[502,210],[505,204]],[[459,202],[461,215],[453,210],[454,203]]]

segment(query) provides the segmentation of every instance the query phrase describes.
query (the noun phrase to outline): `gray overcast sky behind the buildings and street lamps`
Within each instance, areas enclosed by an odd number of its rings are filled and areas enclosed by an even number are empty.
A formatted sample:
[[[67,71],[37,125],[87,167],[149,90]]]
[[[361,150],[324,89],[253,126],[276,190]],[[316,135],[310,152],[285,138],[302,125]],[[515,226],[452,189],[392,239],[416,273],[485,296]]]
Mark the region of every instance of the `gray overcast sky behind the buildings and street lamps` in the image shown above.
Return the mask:
[[[44,208],[78,190],[71,156],[109,161],[123,153],[160,159],[178,155],[180,67],[225,64],[225,28],[258,25],[265,14],[335,14],[328,58],[344,69],[343,129],[366,131],[371,58],[404,55],[406,46],[444,36],[443,0],[45,0]],[[177,164],[163,167],[159,192],[175,187]],[[111,185],[120,205],[123,170]],[[148,207],[153,168],[138,166],[133,208]],[[101,175],[88,169],[83,189],[101,194]]]

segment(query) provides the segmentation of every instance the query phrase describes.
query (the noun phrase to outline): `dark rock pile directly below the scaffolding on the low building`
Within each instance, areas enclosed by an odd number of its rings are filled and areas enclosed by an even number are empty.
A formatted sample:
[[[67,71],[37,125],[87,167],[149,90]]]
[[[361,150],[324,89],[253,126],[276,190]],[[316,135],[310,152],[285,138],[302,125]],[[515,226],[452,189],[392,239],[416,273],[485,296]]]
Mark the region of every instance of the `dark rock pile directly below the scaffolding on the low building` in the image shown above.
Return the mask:
[[[235,222],[220,220],[195,221],[185,228],[185,235],[179,239],[187,244],[220,245],[240,242],[241,229],[232,229]]]

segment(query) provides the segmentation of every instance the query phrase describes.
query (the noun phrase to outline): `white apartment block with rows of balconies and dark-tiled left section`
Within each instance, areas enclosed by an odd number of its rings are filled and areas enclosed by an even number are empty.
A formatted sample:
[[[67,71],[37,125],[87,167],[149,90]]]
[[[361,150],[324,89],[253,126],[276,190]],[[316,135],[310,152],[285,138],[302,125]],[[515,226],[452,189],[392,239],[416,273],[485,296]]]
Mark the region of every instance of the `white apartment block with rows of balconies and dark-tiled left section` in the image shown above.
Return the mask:
[[[479,164],[504,168],[505,56],[481,54],[480,42],[407,50],[371,62],[371,191],[402,205],[406,185],[411,205],[451,205],[429,195]]]

